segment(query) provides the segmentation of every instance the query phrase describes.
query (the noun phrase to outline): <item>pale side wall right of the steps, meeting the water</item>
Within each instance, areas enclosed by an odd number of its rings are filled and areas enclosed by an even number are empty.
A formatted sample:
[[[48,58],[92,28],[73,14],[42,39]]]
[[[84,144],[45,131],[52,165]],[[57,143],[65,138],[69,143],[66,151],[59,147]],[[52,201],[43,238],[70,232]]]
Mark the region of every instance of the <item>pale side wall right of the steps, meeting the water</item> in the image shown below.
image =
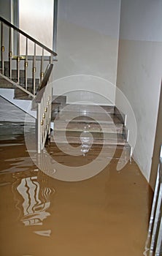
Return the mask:
[[[134,159],[147,181],[162,77],[161,10],[161,0],[121,1],[117,87],[128,98],[136,116]],[[125,110],[118,95],[116,105]]]

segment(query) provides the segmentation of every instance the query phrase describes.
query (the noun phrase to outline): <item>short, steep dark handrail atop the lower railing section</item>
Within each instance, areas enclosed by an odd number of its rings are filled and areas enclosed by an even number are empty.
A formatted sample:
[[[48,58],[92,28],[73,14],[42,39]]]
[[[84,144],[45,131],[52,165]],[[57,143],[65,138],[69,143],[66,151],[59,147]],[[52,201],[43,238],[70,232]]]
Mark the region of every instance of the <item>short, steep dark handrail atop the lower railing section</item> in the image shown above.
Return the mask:
[[[35,102],[36,103],[40,103],[41,102],[42,95],[43,95],[43,93],[45,91],[45,86],[47,86],[47,81],[50,78],[50,74],[51,74],[52,70],[53,70],[53,64],[48,64],[47,69],[45,71],[44,78],[43,78],[42,83],[41,83],[41,85],[39,87],[39,91],[36,94],[36,98],[35,98]]]

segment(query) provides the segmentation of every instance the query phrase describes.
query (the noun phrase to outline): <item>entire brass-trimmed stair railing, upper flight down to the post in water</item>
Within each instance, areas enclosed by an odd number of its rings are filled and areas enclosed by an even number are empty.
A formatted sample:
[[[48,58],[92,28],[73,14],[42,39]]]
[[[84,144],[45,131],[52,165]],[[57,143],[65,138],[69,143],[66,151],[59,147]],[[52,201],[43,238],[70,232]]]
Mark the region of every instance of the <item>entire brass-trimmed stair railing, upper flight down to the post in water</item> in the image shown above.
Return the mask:
[[[50,120],[51,120],[51,102],[52,102],[52,84],[49,83],[50,75],[53,70],[53,59],[57,54],[47,48],[42,43],[38,42],[33,37],[30,37],[25,32],[21,31],[4,18],[0,17],[1,21],[1,78],[6,79],[9,83],[12,83],[18,89],[26,92],[29,96],[33,97],[33,104],[35,103],[35,110],[37,111],[37,125],[36,125],[36,136],[37,136],[37,152],[40,153],[45,146],[45,140],[48,132],[50,132]],[[5,26],[5,27],[4,27]],[[12,47],[12,35],[17,33],[18,45],[17,53],[18,56],[13,57]],[[20,56],[20,34],[26,37],[26,54]],[[4,38],[5,37],[5,38]],[[31,41],[34,44],[34,55],[28,56],[28,42]],[[8,47],[6,46],[8,42]],[[36,56],[36,48],[42,48],[42,56]],[[5,50],[7,49],[7,51]],[[47,65],[45,65],[45,51],[50,53],[50,56],[46,56]],[[7,53],[7,54],[6,54]],[[6,57],[7,56],[7,57]],[[6,59],[8,58],[8,59]],[[16,60],[16,78],[12,76],[12,61]],[[32,61],[31,70],[29,70],[28,61]],[[9,62],[8,72],[6,72],[5,61]],[[20,83],[20,61],[24,61],[23,71],[25,78],[24,83]],[[37,62],[38,61],[38,62]],[[36,69],[39,72],[36,73]],[[29,76],[28,76],[29,75]],[[28,78],[32,75],[32,88],[28,86]],[[36,79],[39,77],[39,87],[36,88]]]

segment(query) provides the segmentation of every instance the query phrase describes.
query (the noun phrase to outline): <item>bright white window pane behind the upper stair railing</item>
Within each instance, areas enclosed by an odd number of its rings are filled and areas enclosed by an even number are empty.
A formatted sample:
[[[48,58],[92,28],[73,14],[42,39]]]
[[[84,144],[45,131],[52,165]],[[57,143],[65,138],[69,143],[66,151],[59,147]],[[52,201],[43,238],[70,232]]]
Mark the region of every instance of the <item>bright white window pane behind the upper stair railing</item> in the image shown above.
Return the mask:
[[[19,28],[53,49],[53,0],[19,0],[19,13]],[[26,54],[25,37],[20,37],[20,54]],[[28,54],[34,54],[34,43],[30,41]],[[42,48],[37,47],[36,54],[42,55]],[[49,55],[46,51],[44,54]]]

